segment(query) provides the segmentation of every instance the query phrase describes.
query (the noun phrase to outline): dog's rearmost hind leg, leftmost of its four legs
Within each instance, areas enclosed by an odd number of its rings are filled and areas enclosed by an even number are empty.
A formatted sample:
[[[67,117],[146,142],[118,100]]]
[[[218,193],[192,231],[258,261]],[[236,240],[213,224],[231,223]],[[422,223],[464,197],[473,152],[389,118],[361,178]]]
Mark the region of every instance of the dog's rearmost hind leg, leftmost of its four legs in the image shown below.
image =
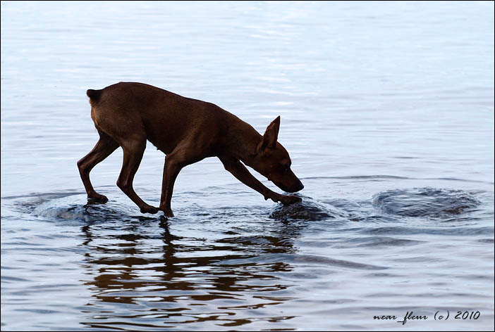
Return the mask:
[[[86,189],[87,197],[105,203],[108,198],[94,191],[90,181],[90,172],[94,166],[102,162],[106,157],[118,148],[118,143],[110,136],[98,130],[99,140],[87,155],[78,161],[79,174],[82,179],[82,184]]]

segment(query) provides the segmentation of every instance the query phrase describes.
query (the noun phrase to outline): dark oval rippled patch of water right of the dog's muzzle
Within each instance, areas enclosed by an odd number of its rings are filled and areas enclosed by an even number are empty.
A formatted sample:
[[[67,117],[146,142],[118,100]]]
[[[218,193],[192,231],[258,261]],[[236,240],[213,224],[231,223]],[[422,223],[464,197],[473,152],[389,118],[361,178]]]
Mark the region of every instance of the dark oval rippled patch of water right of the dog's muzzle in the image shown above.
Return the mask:
[[[449,217],[479,205],[470,193],[457,189],[393,189],[377,193],[372,203],[391,215],[403,217]]]

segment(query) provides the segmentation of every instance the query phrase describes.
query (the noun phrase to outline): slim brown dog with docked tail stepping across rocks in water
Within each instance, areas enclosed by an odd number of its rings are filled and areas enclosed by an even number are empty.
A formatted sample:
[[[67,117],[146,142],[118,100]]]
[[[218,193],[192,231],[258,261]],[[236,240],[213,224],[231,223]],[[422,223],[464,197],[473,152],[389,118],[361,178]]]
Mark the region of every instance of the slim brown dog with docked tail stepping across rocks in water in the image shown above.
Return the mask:
[[[300,191],[304,186],[291,170],[291,158],[278,143],[280,117],[271,122],[263,136],[212,103],[185,98],[142,83],[120,82],[102,90],[87,90],[91,118],[99,141],[78,161],[88,198],[106,202],[94,191],[90,171],[121,146],[123,165],[117,186],[136,203],[142,213],[162,210],[173,217],[170,202],[173,183],[186,165],[207,157],[218,157],[228,172],[264,199],[290,204],[300,201],[271,191],[243,165],[254,168],[283,191]],[[133,189],[133,179],[145,152],[146,140],[166,154],[160,207],[145,203]],[[242,161],[242,162],[240,162]]]

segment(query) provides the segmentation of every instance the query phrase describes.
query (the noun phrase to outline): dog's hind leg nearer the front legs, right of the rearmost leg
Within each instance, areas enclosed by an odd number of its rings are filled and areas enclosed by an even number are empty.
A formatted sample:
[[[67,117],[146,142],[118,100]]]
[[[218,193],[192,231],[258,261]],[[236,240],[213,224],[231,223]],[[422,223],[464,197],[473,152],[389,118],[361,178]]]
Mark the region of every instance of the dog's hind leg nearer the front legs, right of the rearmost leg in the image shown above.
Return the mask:
[[[122,142],[123,163],[117,186],[138,205],[142,213],[157,213],[158,208],[145,203],[133,189],[134,175],[138,171],[145,148],[146,139],[144,137],[142,139],[126,139]]]

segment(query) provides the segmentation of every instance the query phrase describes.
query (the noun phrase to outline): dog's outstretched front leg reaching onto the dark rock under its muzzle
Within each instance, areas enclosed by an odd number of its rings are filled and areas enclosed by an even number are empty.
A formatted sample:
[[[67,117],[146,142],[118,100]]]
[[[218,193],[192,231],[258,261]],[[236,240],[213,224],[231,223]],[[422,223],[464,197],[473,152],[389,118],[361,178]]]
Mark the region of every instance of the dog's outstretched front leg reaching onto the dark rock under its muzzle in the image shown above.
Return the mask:
[[[226,170],[228,170],[228,172],[231,172],[234,177],[236,177],[246,186],[255,189],[255,191],[257,191],[258,193],[261,193],[264,196],[265,200],[270,198],[274,202],[281,202],[283,204],[292,204],[301,201],[301,198],[299,197],[281,195],[280,193],[271,191],[261,182],[259,182],[258,179],[253,177],[249,170],[247,170],[247,168],[243,165],[243,163],[236,158],[219,156],[219,159],[224,164],[224,167]]]

